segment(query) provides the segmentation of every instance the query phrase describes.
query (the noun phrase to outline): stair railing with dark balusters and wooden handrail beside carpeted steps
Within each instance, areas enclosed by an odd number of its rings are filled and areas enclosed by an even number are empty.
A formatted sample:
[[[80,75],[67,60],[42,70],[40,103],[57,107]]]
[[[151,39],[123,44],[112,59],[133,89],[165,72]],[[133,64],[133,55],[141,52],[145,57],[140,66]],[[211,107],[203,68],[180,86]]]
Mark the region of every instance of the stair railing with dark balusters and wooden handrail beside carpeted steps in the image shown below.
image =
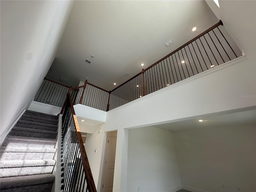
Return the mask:
[[[69,89],[62,110],[62,186],[63,192],[96,192],[80,128]],[[63,109],[63,108],[62,108]]]

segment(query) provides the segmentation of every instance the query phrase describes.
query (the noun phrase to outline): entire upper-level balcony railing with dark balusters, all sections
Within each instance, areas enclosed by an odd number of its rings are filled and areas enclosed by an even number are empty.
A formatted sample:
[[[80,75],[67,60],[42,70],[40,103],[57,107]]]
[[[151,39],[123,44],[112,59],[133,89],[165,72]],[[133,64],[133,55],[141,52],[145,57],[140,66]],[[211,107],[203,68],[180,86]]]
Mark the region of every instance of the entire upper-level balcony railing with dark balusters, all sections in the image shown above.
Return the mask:
[[[80,103],[108,111],[241,55],[241,51],[220,20],[114,90],[107,91],[86,81],[84,86],[71,88],[70,93],[74,98],[73,104]],[[57,85],[53,87],[51,88],[49,82],[43,82],[35,100],[56,106],[63,104],[68,88],[56,88]],[[60,91],[63,89],[66,90]]]

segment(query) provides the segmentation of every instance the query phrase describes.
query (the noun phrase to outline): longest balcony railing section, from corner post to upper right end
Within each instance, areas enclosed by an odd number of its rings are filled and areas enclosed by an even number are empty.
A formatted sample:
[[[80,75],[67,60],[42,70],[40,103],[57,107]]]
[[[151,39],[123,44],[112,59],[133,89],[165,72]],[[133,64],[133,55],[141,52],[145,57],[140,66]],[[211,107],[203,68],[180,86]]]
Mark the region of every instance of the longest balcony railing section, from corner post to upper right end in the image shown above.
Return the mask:
[[[241,56],[220,20],[111,90],[109,110]]]

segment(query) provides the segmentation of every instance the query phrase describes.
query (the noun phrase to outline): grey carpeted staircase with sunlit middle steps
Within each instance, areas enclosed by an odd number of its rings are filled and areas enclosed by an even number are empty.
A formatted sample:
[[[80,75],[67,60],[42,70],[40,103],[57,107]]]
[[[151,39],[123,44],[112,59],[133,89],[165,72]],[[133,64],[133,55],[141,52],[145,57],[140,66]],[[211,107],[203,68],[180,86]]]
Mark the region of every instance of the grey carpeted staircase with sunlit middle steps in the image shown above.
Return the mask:
[[[1,192],[50,192],[58,116],[26,110],[0,147]]]

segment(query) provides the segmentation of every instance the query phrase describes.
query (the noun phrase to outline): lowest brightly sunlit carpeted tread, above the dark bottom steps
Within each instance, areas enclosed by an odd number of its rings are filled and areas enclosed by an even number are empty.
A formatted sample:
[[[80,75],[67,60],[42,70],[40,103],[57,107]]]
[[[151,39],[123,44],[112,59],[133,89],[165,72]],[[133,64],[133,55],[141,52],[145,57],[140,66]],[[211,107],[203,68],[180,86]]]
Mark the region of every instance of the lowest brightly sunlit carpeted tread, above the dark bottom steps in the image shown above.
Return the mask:
[[[0,160],[0,168],[54,166],[55,160]]]

